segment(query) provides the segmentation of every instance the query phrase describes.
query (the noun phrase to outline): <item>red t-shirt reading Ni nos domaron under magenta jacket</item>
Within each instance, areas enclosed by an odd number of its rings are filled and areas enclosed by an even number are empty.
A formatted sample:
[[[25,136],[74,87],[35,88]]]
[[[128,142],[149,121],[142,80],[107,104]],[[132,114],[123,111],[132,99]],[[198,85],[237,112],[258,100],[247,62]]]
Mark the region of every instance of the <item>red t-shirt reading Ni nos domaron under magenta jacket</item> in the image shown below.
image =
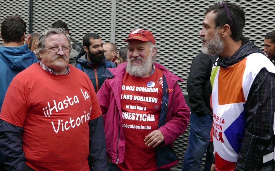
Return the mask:
[[[121,92],[122,127],[125,136],[125,154],[121,170],[157,170],[156,149],[145,145],[144,139],[157,130],[162,100],[161,70],[146,78],[123,77]]]

